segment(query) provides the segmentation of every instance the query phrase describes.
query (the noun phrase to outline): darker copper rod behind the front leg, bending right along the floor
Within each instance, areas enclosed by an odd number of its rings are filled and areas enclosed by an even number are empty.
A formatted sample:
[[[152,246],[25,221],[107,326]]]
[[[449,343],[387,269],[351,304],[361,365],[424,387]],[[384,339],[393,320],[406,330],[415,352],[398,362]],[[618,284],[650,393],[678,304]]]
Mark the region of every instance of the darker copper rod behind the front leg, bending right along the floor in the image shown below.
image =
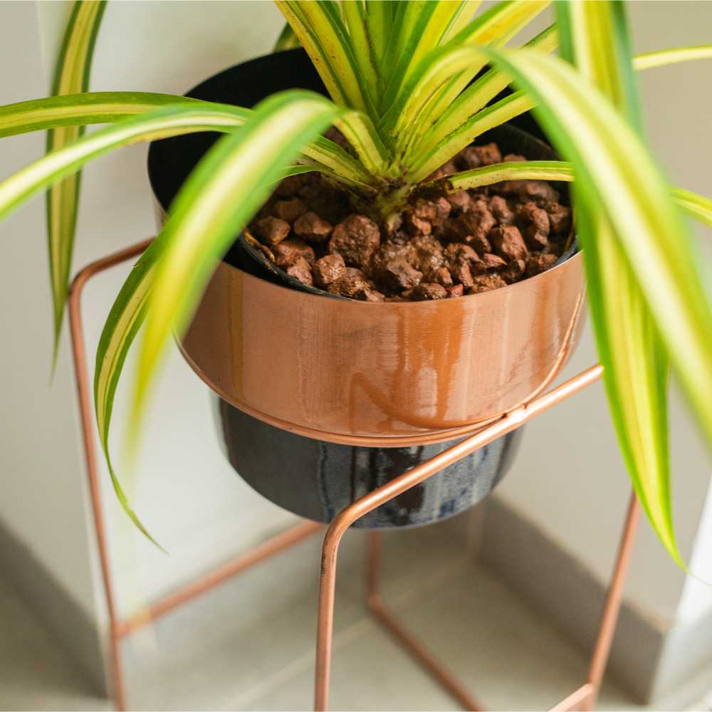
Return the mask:
[[[428,671],[441,686],[443,686],[462,706],[464,710],[480,712],[481,703],[452,676],[422,643],[407,632],[391,612],[385,607],[378,592],[378,562],[381,550],[381,533],[372,531],[368,540],[367,563],[367,605],[377,621],[382,624],[397,641],[413,656],[413,658]]]

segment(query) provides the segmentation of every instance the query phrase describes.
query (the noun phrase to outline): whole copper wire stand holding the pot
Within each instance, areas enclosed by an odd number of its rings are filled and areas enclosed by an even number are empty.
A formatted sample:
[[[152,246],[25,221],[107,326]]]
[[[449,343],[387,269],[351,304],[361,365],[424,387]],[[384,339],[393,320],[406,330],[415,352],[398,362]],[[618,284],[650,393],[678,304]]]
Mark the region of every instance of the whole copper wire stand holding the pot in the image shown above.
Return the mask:
[[[123,250],[111,253],[85,266],[85,268],[75,276],[70,286],[68,296],[72,355],[77,384],[78,404],[80,407],[85,462],[109,618],[110,678],[117,710],[125,710],[127,708],[120,652],[120,642],[123,638],[152,620],[214,589],[229,578],[239,575],[248,568],[283,552],[324,528],[323,525],[311,521],[299,523],[247,550],[235,560],[227,562],[211,572],[201,575],[196,580],[179,588],[179,590],[153,602],[145,612],[141,612],[125,620],[118,617],[115,606],[112,575],[109,567],[105,522],[101,507],[93,425],[93,407],[88,384],[88,367],[81,318],[81,296],[83,287],[90,278],[140,255],[148,244],[150,244],[150,241],[150,239],[142,241]],[[498,419],[495,423],[485,428],[473,425],[473,431],[476,430],[474,434],[471,434],[430,460],[422,462],[418,466],[394,478],[389,483],[363,496],[350,506],[347,506],[347,508],[334,518],[326,529],[321,553],[314,697],[314,708],[316,711],[325,711],[328,708],[337,555],[341,538],[346,530],[356,520],[375,508],[399,496],[399,494],[404,493],[409,488],[422,483],[426,478],[433,476],[447,466],[454,464],[459,459],[518,428],[536,415],[548,410],[550,407],[553,407],[557,403],[562,402],[562,400],[571,397],[596,382],[601,374],[602,367],[600,365],[590,367],[560,386],[536,397],[523,407],[513,409],[501,417],[501,419]],[[600,629],[595,642],[587,680],[582,686],[551,708],[552,712],[572,710],[575,708],[588,711],[595,705],[616,629],[620,604],[622,602],[624,579],[632,554],[634,535],[637,530],[639,518],[640,506],[633,492],[630,496],[628,511],[609,582],[607,598],[604,604]],[[481,703],[479,703],[476,698],[473,698],[471,693],[447,671],[443,664],[441,664],[421,642],[412,637],[412,635],[402,627],[402,624],[397,621],[384,604],[378,592],[380,541],[379,532],[370,532],[368,538],[366,576],[366,599],[369,611],[464,709],[484,709]]]

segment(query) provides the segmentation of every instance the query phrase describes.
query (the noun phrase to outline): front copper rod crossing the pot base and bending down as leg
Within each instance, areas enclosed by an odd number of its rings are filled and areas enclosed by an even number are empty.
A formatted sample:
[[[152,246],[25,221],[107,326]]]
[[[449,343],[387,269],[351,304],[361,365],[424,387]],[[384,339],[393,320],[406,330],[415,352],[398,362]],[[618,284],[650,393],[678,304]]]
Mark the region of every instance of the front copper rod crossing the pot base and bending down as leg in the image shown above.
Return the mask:
[[[435,457],[422,462],[357,499],[336,515],[326,531],[321,555],[314,691],[314,708],[317,712],[325,711],[328,706],[336,563],[341,538],[350,525],[383,503],[399,496],[447,466],[518,428],[536,415],[589,386],[600,378],[602,372],[603,367],[600,365],[590,367],[529,404],[513,410],[496,423],[461,440]]]

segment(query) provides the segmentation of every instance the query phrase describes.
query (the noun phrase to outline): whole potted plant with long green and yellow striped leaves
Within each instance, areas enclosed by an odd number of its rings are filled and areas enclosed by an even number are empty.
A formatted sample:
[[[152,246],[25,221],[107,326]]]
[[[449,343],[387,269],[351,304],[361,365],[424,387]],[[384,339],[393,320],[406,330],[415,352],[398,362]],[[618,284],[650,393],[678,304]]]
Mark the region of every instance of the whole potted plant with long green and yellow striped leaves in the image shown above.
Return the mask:
[[[666,382],[674,370],[712,441],[712,308],[683,213],[712,224],[712,201],[666,185],[646,148],[635,71],[712,56],[710,46],[634,58],[620,2],[557,3],[557,23],[523,47],[515,36],[547,2],[278,0],[330,99],[303,90],[255,108],[146,93],[85,93],[103,5],[79,2],[66,33],[56,96],[0,108],[0,136],[50,130],[48,154],[0,184],[0,216],[50,187],[56,336],[71,262],[78,172],[140,141],[224,134],[185,182],[155,241],[108,315],[97,352],[100,439],[128,350],[145,326],[132,438],[172,332],[182,333],[236,234],[288,174],[318,171],[352,203],[388,221],[424,188],[452,191],[511,179],[573,180],[577,234],[614,424],[630,476],[677,562],[669,491]],[[561,56],[551,56],[560,43]],[[492,103],[513,84],[515,91]],[[533,110],[566,161],[509,162],[429,176],[492,127]],[[108,126],[83,136],[81,127]],[[322,136],[336,125],[347,152]],[[492,338],[497,338],[496,334]],[[142,527],[141,527],[142,528]],[[145,530],[142,528],[145,532]]]

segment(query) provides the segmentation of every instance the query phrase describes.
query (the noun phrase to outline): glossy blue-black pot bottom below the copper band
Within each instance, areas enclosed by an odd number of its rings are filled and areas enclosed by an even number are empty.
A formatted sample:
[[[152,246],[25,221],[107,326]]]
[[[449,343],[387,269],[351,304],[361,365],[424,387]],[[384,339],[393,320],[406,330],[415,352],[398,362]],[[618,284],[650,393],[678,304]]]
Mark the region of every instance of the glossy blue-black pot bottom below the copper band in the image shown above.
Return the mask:
[[[241,478],[283,509],[323,523],[460,440],[389,448],[340,445],[281,430],[217,401],[226,455]],[[466,511],[505,475],[520,435],[518,429],[473,452],[360,518],[354,527],[417,527]]]

